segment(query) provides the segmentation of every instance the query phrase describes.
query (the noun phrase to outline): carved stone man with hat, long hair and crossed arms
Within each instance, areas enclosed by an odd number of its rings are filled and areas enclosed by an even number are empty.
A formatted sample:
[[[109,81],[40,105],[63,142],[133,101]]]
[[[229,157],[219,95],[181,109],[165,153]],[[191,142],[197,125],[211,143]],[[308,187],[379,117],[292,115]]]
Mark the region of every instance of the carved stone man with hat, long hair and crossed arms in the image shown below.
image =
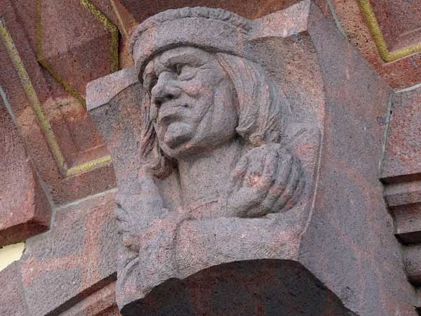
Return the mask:
[[[183,8],[133,32],[144,94],[142,164],[139,192],[117,197],[128,249],[121,305],[167,279],[232,261],[288,258],[297,246],[320,131],[311,119],[300,121],[281,86],[249,57],[251,31],[234,13]],[[157,179],[171,182],[170,197]]]

